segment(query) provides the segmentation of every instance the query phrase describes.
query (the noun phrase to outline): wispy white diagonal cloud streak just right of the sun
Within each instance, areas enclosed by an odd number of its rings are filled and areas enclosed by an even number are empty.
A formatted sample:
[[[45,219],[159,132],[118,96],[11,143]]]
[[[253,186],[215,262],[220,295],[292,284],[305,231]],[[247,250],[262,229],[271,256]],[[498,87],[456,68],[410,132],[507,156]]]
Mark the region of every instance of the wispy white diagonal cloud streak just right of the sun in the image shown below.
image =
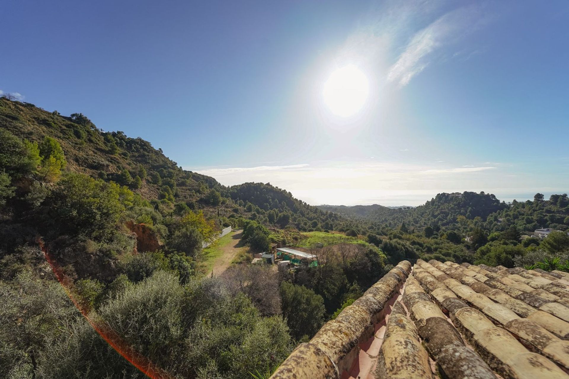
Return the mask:
[[[455,43],[461,36],[475,30],[479,19],[475,6],[462,7],[436,19],[413,35],[397,62],[391,66],[387,80],[401,86],[409,84],[411,78],[430,64],[430,56],[436,49]]]

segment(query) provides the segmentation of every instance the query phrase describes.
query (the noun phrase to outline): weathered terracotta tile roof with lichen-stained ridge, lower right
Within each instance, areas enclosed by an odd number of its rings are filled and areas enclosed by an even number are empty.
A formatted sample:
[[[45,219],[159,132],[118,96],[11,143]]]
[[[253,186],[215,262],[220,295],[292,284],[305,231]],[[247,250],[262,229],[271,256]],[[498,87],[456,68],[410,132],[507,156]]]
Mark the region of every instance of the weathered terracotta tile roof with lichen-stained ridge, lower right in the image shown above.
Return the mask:
[[[300,344],[271,378],[567,373],[568,273],[419,259],[398,264]]]

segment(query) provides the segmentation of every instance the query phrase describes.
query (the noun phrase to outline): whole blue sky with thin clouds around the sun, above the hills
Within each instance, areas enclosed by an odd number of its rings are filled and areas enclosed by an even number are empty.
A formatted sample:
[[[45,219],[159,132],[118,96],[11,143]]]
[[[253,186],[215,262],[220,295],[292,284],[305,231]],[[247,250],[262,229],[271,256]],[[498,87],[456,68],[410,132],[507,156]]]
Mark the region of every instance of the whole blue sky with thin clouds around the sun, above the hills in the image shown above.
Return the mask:
[[[0,90],[311,204],[569,190],[567,1],[4,1]],[[323,102],[357,66],[356,114]]]

